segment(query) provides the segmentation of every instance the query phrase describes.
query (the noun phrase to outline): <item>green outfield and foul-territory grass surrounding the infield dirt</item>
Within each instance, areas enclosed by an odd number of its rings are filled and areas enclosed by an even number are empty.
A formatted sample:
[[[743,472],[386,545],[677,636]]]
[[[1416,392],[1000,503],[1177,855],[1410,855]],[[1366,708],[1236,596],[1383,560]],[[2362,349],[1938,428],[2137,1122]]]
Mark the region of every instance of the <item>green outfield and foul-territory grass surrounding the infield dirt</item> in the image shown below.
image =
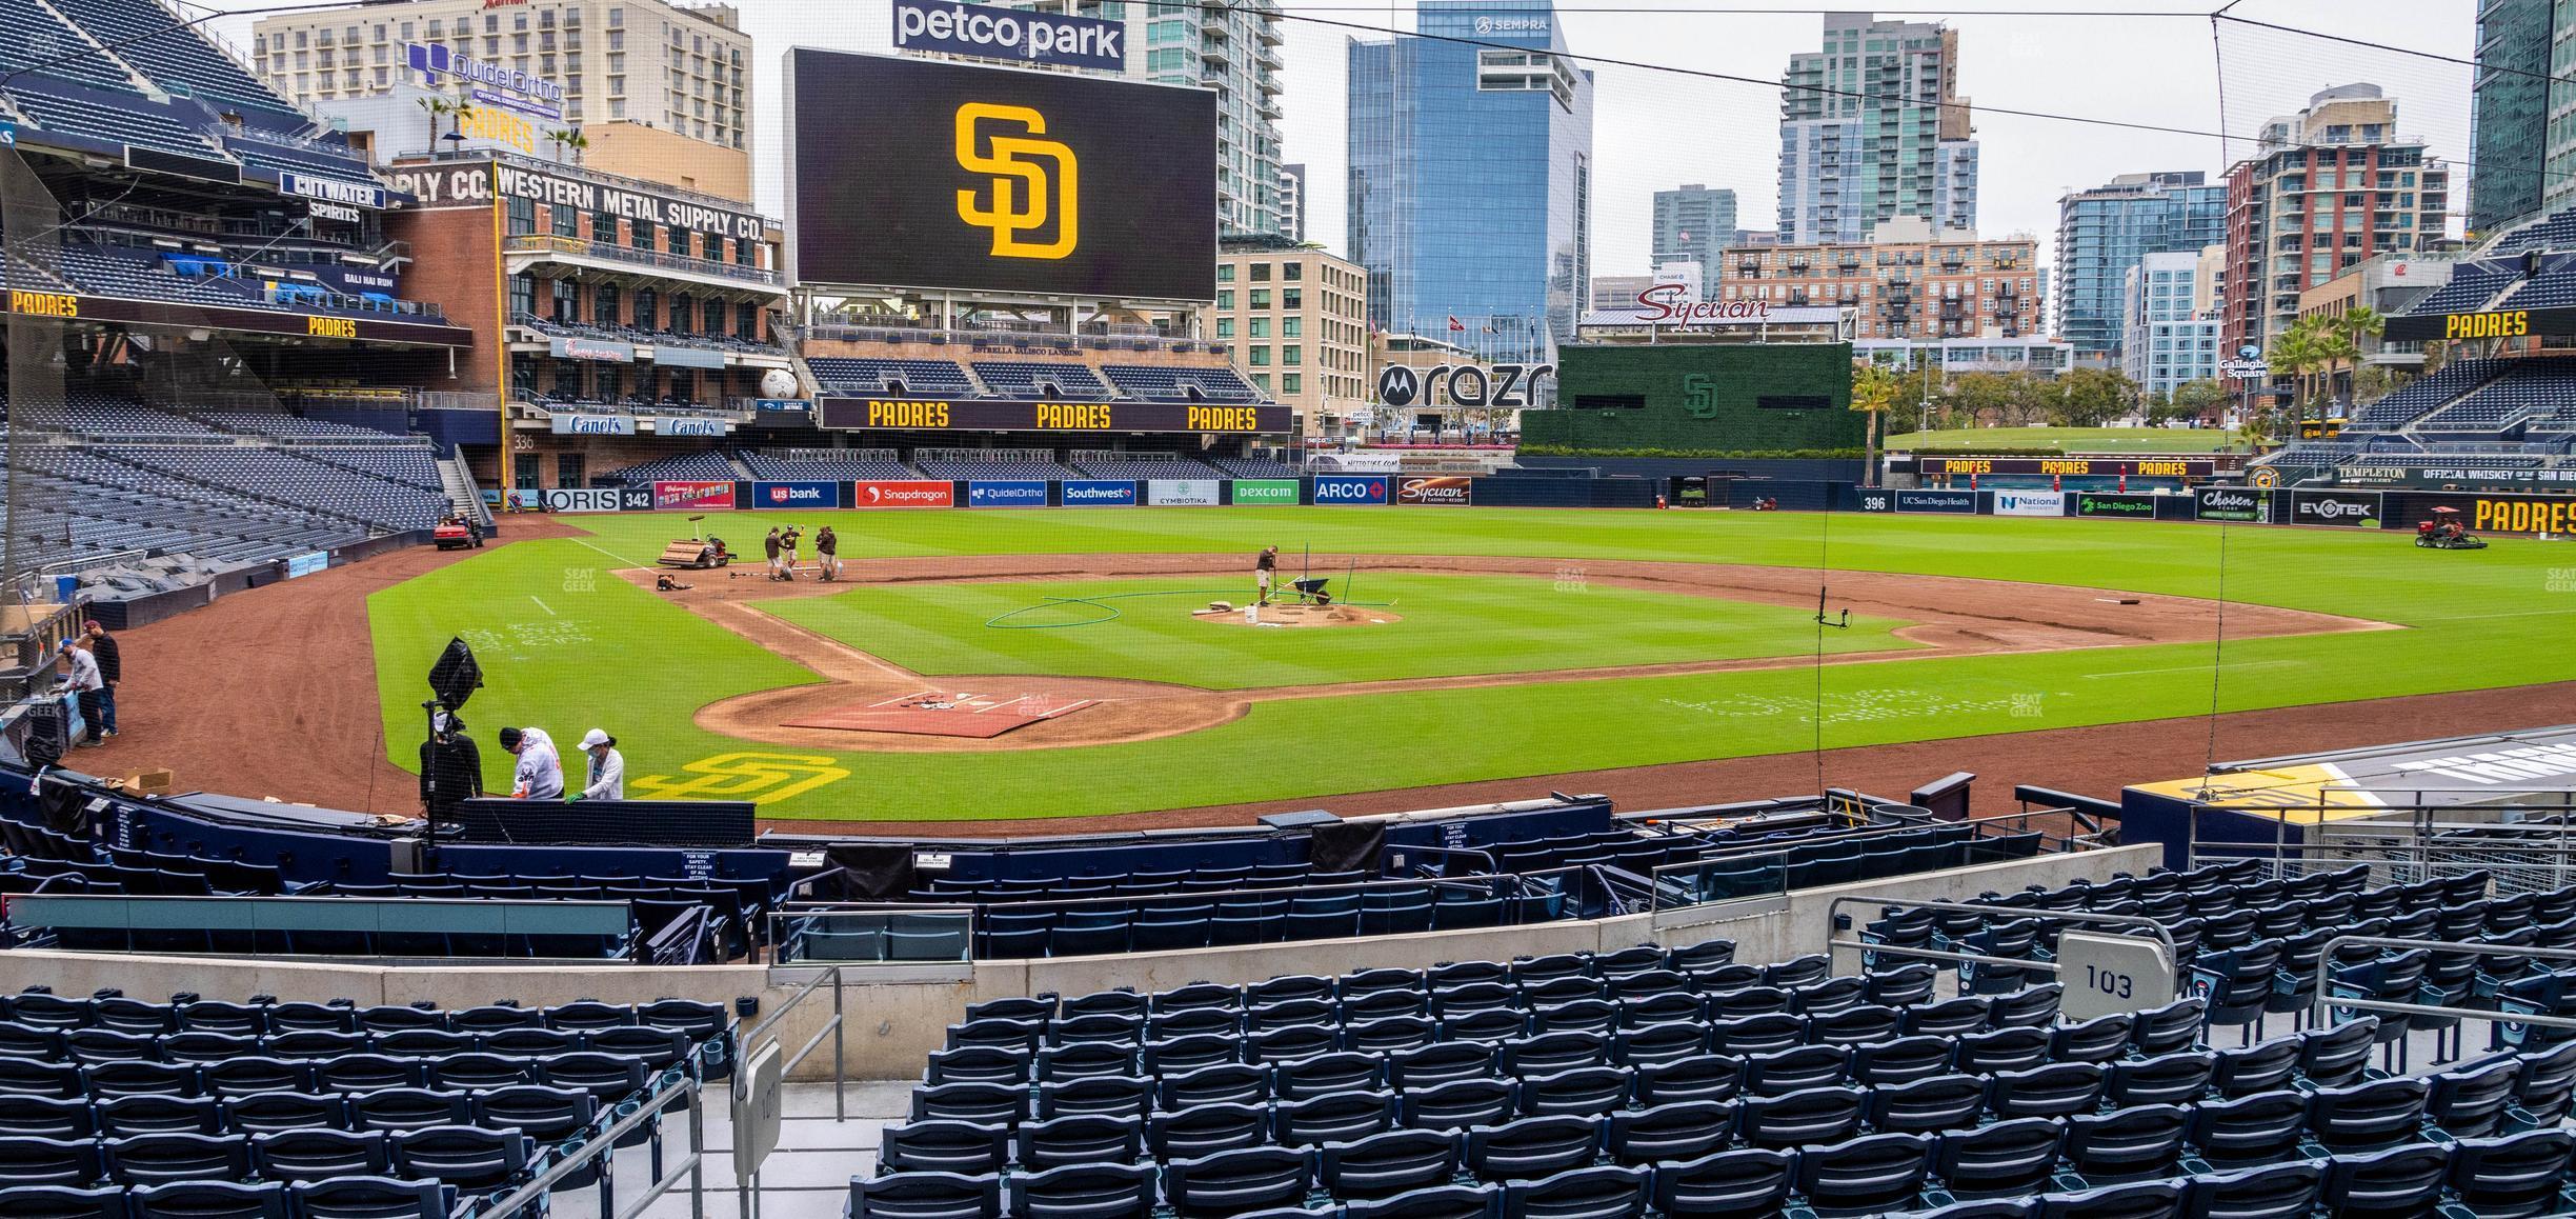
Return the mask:
[[[544,724],[569,740],[603,724],[621,737],[629,776],[636,776],[631,794],[760,799],[765,814],[809,820],[1064,817],[1321,799],[1334,791],[1808,750],[1819,742],[1886,745],[2195,716],[2213,706],[2236,711],[2576,680],[2576,647],[2568,647],[2576,552],[2519,539],[2452,554],[2414,549],[2398,531],[1486,508],[786,513],[778,521],[786,518],[806,526],[829,521],[850,559],[999,552],[1249,557],[1262,544],[1291,552],[1311,544],[1316,554],[1821,562],[1829,570],[2200,598],[2218,595],[2223,549],[2228,600],[2414,629],[2236,639],[2215,673],[2208,644],[1899,657],[1821,673],[1783,667],[1270,701],[1208,732],[1082,750],[827,755],[719,737],[693,724],[690,714],[708,701],[814,678],[605,572],[647,564],[670,536],[685,533],[685,521],[567,518],[595,536],[510,544],[368,600],[389,758],[412,765],[420,675],[459,631],[484,655],[489,686],[466,709],[479,732]],[[714,523],[729,539],[750,541],[773,518],[729,513]],[[1363,588],[1368,580],[1376,577],[1363,577]],[[984,631],[981,619],[971,631]],[[914,647],[933,655],[1082,642],[1082,629],[1012,631],[1038,639],[1007,644],[958,642],[956,634],[945,642],[925,637]],[[1533,644],[1533,655],[1553,667],[1600,665],[1607,649],[1623,647],[1610,634],[1577,624],[1558,634],[1553,652]],[[1072,665],[1074,655],[1059,657]],[[1010,667],[1043,670],[1043,660],[1041,652],[1020,652]],[[1211,665],[1182,657],[1144,662]],[[971,667],[987,665],[974,660]],[[2427,734],[2470,727],[2427,724]],[[500,776],[507,755],[487,750],[487,760]]]

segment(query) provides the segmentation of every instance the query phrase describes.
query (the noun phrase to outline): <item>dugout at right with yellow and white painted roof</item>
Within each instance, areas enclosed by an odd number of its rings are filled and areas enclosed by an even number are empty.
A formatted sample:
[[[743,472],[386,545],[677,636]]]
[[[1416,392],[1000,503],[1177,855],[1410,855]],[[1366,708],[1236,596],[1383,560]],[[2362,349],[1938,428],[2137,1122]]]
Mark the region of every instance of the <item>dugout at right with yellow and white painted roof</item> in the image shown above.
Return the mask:
[[[2439,835],[2571,814],[2576,724],[2254,758],[2120,789],[2123,843],[2161,843],[2169,869],[2192,856],[2383,861],[2391,843],[2424,856]]]

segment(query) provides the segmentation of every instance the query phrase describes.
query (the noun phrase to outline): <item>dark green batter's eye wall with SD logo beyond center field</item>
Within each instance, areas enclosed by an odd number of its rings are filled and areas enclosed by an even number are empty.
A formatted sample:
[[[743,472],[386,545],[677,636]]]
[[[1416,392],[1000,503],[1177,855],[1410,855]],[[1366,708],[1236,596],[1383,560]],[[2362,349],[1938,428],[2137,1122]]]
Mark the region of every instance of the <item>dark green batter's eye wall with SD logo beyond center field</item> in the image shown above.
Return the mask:
[[[1850,343],[1569,345],[1556,410],[1520,415],[1548,456],[1834,456],[1868,446]]]

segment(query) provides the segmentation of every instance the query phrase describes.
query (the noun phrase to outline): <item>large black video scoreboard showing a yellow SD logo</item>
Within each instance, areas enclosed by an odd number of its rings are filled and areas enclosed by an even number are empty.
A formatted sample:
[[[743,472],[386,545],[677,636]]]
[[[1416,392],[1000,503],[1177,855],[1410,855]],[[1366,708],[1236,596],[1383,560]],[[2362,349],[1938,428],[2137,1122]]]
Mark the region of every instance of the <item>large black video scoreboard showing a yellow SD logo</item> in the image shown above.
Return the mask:
[[[809,46],[786,67],[796,281],[1216,299],[1216,90]]]

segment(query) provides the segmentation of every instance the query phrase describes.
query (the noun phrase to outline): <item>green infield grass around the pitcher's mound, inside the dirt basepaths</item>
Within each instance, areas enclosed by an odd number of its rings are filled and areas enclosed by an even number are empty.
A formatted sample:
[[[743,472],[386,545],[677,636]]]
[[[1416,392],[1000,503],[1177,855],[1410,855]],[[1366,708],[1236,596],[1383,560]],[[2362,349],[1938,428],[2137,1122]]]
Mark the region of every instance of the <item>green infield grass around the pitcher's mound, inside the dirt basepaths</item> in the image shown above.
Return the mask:
[[[1206,691],[1749,660],[1819,647],[1814,608],[1607,588],[1579,570],[1556,580],[1363,572],[1355,600],[1401,616],[1381,626],[1291,631],[1190,616],[1216,598],[1242,603],[1244,585],[1224,588],[1213,577],[876,585],[762,608],[914,673],[1066,673]],[[1097,621],[1110,613],[1113,621]],[[1005,629],[987,626],[994,619],[1005,619]],[[1855,619],[1850,629],[1824,631],[1821,647],[1909,647],[1888,634],[1896,626]]]

